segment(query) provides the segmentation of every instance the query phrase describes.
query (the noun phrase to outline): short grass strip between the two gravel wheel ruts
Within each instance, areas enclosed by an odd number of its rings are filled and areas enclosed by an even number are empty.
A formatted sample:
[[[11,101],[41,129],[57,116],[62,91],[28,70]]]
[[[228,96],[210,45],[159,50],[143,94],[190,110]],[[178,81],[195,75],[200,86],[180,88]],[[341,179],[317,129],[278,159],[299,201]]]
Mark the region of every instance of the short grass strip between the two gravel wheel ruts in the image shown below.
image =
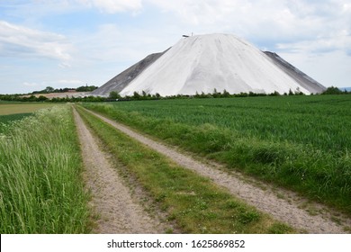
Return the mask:
[[[293,231],[168,158],[78,109],[106,148],[135,175],[168,220],[184,233],[282,233]]]

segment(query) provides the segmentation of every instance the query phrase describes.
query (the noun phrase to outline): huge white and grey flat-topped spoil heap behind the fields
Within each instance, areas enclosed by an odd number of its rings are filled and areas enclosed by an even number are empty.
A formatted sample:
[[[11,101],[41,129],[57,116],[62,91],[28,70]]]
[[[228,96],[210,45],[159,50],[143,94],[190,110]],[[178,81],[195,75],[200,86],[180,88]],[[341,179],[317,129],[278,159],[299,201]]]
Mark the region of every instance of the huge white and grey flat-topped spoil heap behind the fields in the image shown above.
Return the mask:
[[[269,51],[229,34],[183,38],[164,52],[148,55],[113,77],[92,94],[230,94],[302,92],[317,94],[326,87]]]

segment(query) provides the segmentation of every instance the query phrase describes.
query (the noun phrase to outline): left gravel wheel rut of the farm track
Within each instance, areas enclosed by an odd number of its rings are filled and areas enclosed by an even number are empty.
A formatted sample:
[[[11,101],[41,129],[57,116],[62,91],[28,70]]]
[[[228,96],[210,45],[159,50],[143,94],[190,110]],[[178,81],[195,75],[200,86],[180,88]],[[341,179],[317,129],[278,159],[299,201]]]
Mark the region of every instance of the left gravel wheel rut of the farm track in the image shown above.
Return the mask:
[[[85,184],[99,217],[94,233],[163,233],[162,224],[132,199],[130,189],[122,183],[76,110],[74,116],[84,157]]]

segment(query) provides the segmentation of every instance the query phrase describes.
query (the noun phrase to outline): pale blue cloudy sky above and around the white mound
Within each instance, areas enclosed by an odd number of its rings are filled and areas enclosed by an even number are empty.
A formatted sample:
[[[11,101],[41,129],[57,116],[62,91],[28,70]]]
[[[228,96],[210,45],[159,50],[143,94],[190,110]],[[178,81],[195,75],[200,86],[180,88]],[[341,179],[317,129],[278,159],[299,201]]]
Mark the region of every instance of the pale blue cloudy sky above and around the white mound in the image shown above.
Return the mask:
[[[0,0],[0,94],[100,86],[192,32],[235,34],[351,86],[350,0]]]

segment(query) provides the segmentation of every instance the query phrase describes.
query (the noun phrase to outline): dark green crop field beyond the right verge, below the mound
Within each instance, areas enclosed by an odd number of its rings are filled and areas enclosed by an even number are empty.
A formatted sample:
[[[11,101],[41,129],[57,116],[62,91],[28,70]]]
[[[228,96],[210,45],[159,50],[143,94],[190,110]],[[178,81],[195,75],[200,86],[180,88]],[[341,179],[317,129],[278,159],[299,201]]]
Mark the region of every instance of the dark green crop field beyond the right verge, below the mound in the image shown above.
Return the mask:
[[[117,110],[155,119],[235,131],[247,138],[311,144],[332,151],[350,147],[348,95],[247,97],[111,103]]]

